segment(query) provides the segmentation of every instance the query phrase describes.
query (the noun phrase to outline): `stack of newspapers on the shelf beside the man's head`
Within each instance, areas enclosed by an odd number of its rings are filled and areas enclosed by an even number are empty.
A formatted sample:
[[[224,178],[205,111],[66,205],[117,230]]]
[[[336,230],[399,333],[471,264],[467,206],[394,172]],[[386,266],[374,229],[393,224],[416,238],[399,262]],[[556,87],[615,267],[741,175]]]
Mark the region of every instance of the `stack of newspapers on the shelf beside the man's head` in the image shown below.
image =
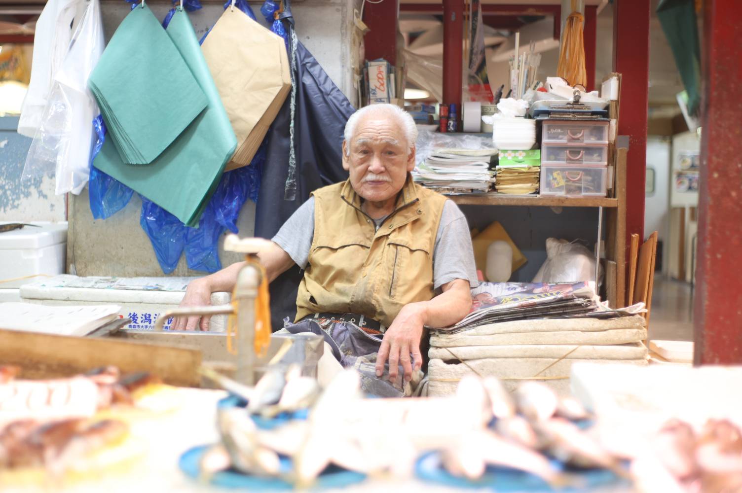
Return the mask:
[[[484,193],[495,183],[490,158],[496,151],[439,150],[413,171],[416,183],[440,193]]]

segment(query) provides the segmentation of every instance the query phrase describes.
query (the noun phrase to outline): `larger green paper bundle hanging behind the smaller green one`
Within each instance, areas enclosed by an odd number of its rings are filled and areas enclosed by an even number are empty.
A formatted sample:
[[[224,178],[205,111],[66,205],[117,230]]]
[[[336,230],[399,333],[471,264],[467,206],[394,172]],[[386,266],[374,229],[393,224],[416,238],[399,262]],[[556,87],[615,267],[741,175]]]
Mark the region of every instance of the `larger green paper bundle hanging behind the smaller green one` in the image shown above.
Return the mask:
[[[141,7],[134,10],[141,10]],[[157,28],[162,30],[159,23]],[[176,10],[162,33],[172,40],[177,57],[185,59],[186,70],[193,73],[202,93],[206,93],[209,101],[206,110],[147,166],[126,164],[109,139],[105,140],[93,165],[160,205],[186,226],[194,227],[219,185],[226,162],[237,148],[237,139],[188,14]],[[179,88],[168,90],[176,95],[180,92]],[[177,110],[182,104],[174,104],[173,109]]]

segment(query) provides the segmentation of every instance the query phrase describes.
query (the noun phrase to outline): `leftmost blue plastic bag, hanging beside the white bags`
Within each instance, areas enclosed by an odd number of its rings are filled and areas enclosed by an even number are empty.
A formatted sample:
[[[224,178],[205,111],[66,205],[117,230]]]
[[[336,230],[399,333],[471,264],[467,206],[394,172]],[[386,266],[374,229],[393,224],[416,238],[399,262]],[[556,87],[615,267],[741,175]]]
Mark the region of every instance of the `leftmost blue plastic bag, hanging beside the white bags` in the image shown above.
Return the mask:
[[[98,115],[93,120],[93,130],[96,133],[96,142],[93,145],[93,152],[91,152],[91,176],[88,181],[88,195],[93,219],[108,219],[126,207],[134,191],[93,166],[93,159],[98,155],[105,141],[106,128],[102,116]]]

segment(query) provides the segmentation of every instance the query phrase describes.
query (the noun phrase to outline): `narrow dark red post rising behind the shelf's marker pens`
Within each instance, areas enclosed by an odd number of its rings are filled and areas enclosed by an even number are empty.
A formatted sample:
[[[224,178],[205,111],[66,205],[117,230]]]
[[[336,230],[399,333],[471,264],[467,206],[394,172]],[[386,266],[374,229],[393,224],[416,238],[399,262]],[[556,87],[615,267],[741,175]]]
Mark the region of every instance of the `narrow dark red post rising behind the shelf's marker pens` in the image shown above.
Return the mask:
[[[464,56],[464,0],[443,0],[443,104],[455,104],[461,118]]]

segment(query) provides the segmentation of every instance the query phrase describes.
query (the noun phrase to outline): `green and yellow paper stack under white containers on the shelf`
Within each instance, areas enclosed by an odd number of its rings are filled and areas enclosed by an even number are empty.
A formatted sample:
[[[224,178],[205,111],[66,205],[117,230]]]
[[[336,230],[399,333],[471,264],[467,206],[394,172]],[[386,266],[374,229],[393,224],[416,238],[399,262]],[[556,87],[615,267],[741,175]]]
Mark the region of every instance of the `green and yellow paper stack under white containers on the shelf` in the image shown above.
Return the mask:
[[[498,158],[496,190],[499,193],[528,195],[539,191],[540,150],[501,150]]]

